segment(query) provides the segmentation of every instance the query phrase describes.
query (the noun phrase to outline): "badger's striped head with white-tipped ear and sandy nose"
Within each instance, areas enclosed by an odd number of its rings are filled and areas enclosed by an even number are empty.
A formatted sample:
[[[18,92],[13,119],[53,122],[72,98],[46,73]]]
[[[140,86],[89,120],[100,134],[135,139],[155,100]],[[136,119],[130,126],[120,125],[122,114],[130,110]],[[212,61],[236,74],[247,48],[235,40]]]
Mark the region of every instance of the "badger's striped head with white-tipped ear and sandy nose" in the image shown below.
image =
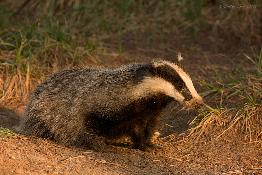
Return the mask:
[[[197,108],[204,103],[196,92],[192,80],[184,69],[183,58],[179,53],[172,61],[153,62],[153,84],[167,96],[181,105]]]

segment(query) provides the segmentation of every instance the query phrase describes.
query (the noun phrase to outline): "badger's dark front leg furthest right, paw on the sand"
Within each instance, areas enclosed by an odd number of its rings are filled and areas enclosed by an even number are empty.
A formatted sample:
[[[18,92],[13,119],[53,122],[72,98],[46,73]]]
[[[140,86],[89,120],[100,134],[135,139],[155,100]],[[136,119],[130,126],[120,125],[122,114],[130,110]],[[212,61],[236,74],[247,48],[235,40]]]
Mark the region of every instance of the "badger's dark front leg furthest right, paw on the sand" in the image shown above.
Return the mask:
[[[134,146],[148,153],[164,154],[166,152],[165,149],[160,146],[155,146],[152,143],[152,136],[156,128],[154,123],[155,122],[150,121],[147,122],[144,127],[141,125],[135,126],[132,134]]]

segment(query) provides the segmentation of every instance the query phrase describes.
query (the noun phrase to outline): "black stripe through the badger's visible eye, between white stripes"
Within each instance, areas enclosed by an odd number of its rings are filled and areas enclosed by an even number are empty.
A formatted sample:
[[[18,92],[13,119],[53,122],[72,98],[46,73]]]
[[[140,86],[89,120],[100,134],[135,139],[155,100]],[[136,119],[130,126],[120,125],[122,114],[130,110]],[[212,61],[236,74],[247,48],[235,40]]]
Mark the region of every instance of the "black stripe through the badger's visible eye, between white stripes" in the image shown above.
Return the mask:
[[[185,82],[182,80],[180,75],[169,65],[160,65],[157,66],[157,74],[164,80],[170,82],[178,92],[180,92],[185,101],[192,99],[192,94],[190,93],[187,86],[185,86]],[[178,87],[182,86],[183,89],[179,89]]]

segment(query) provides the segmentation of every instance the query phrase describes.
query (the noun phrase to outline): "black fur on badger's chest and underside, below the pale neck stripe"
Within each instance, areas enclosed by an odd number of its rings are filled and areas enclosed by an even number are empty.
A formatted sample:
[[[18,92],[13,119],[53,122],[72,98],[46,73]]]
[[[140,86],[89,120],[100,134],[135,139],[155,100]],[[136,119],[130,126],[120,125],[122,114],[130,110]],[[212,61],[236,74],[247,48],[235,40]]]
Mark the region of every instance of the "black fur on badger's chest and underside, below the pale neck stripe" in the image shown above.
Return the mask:
[[[111,114],[110,118],[101,117],[99,113],[87,116],[87,123],[100,129],[100,133],[107,139],[119,139],[121,137],[132,137],[136,130],[146,131],[146,128],[153,132],[159,124],[163,113],[172,101],[171,97],[158,95],[151,98],[144,98],[140,101],[133,101],[122,111]]]

